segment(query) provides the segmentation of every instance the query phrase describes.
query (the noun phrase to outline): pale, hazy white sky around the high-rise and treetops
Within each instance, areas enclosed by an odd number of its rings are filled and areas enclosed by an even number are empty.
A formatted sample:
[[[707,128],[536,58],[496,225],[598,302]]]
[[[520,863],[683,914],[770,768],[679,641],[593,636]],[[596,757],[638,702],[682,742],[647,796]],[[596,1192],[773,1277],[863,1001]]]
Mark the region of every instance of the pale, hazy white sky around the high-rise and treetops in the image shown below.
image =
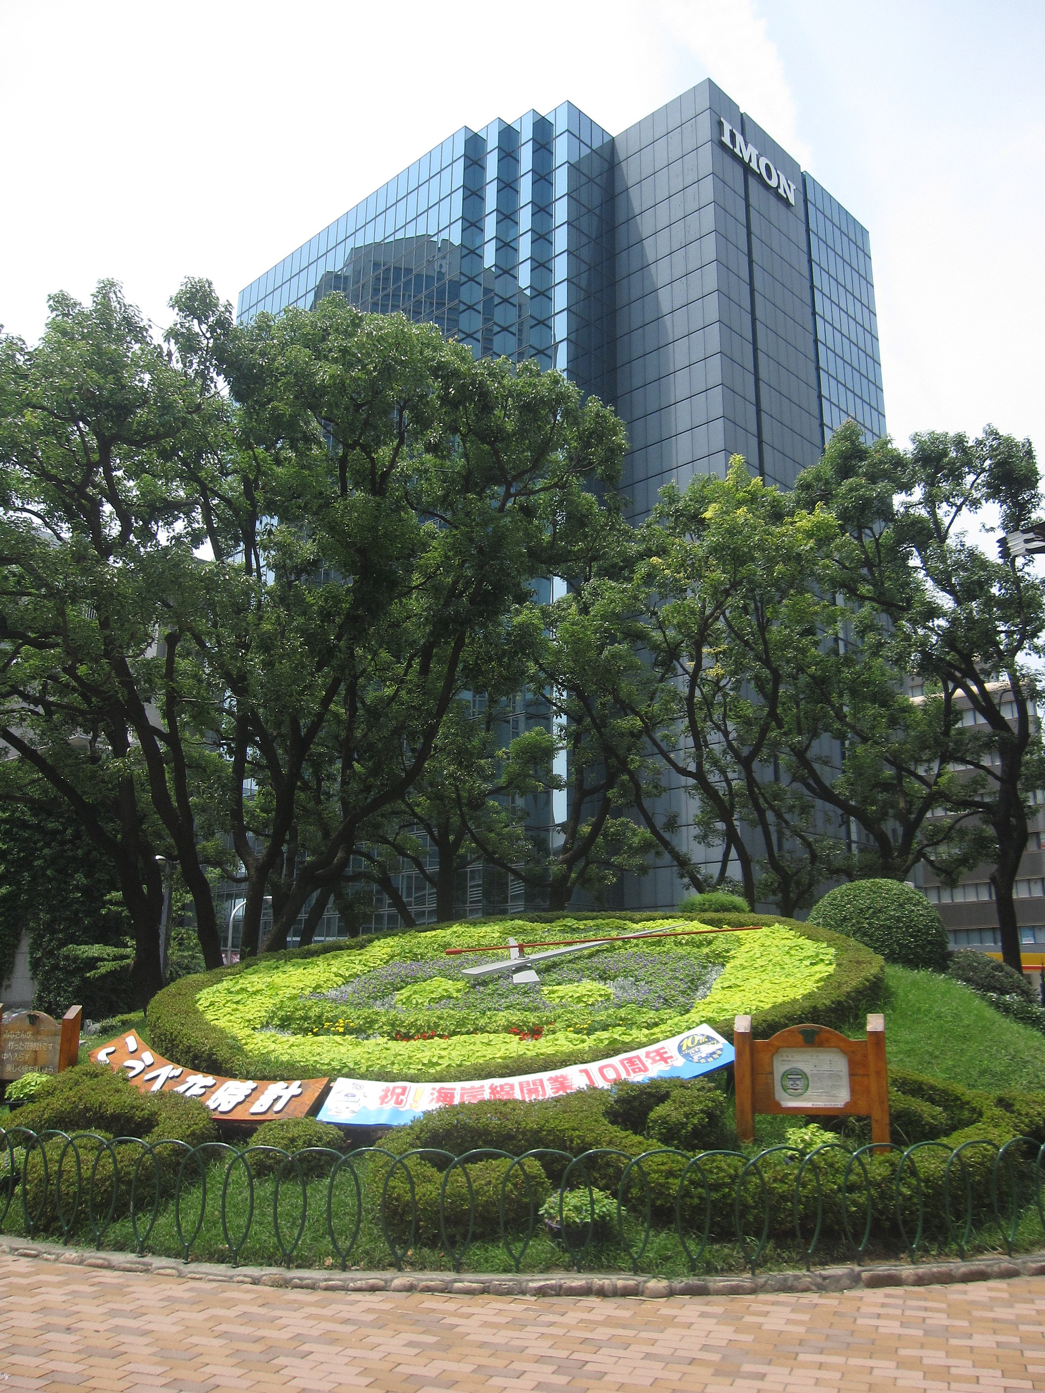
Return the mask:
[[[461,125],[712,77],[869,230],[893,437],[1045,460],[1042,71],[1041,0],[0,0],[0,323],[114,277],[163,327]]]

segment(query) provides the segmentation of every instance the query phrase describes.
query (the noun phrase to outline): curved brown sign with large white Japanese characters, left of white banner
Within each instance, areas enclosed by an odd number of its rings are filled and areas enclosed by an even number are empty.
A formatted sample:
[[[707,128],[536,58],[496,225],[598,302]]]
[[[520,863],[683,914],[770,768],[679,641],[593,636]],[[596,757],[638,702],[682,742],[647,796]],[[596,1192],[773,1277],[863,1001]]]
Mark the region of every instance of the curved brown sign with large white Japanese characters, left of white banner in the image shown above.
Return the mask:
[[[230,1123],[265,1123],[272,1117],[307,1117],[326,1088],[325,1078],[224,1078],[155,1055],[137,1035],[123,1035],[91,1052],[144,1094],[181,1094],[198,1098],[215,1117]]]

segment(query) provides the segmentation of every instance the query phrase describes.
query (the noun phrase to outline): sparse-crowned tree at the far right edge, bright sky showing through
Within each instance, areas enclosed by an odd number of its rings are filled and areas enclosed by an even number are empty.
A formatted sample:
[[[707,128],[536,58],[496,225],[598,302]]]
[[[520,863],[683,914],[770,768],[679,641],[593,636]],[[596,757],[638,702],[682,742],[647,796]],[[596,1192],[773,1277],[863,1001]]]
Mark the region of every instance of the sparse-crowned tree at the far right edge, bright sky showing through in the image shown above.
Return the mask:
[[[1035,518],[1032,447],[988,426],[975,440],[934,432],[913,436],[907,451],[867,454],[850,428],[850,439],[800,479],[798,493],[830,501],[853,542],[835,584],[857,613],[888,621],[893,670],[918,674],[943,713],[947,802],[989,833],[1002,954],[1019,967],[1014,886],[1031,795],[1045,775],[1045,585],[1032,559],[993,560],[974,532],[995,517],[1003,531]],[[960,724],[963,703],[971,727]]]

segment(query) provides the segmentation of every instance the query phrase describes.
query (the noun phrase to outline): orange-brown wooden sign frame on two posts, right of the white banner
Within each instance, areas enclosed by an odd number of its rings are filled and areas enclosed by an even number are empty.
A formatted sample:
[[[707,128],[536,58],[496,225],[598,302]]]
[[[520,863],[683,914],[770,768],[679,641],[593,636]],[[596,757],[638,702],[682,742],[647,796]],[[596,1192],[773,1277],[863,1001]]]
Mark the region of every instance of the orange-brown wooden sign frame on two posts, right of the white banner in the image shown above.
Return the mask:
[[[885,1061],[885,1015],[867,1018],[867,1039],[851,1041],[826,1025],[791,1025],[768,1041],[751,1036],[751,1017],[737,1015],[733,1022],[736,1052],[737,1137],[755,1139],[759,1113],[807,1114],[811,1117],[858,1116],[871,1119],[871,1139],[889,1142],[889,1075]],[[776,1096],[773,1061],[779,1050],[839,1050],[849,1067],[849,1102],[815,1106],[780,1103]]]

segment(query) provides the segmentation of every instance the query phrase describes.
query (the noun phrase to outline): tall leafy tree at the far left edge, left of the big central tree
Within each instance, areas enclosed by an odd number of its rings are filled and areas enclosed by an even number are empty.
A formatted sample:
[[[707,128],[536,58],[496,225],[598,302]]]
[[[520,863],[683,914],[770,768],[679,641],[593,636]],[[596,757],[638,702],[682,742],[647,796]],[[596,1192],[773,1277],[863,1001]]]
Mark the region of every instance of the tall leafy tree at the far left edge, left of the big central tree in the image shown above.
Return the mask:
[[[202,298],[220,327],[227,312]],[[206,357],[156,343],[113,283],[89,306],[49,304],[35,348],[0,340],[0,738],[116,866],[146,1002],[162,985],[157,853],[178,855],[220,963],[194,798],[206,722],[198,669],[173,680],[170,614],[202,603],[192,479],[227,405]]]

